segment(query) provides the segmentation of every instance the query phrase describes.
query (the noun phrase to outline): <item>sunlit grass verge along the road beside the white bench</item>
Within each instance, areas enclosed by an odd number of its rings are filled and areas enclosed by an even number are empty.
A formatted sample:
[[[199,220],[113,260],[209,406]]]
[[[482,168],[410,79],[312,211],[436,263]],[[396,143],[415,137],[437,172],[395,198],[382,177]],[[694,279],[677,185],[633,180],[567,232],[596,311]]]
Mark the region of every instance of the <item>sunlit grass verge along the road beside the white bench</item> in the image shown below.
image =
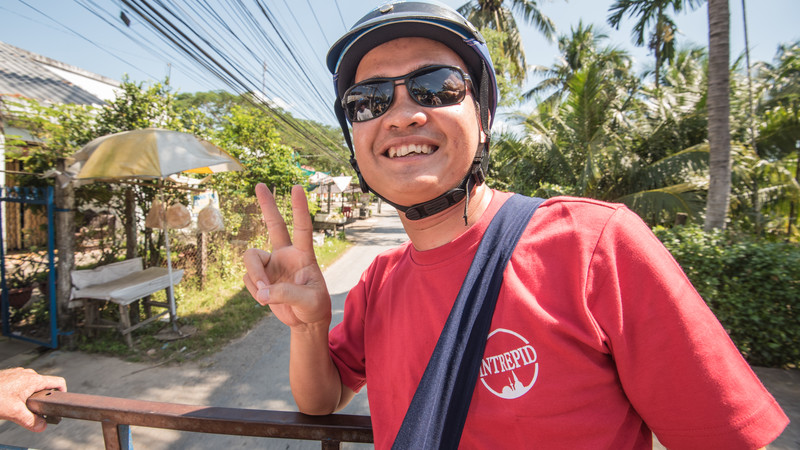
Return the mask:
[[[314,248],[317,262],[324,270],[351,245],[345,240],[326,239],[323,245]],[[120,356],[131,361],[181,362],[214,353],[243,336],[270,310],[256,303],[244,287],[241,258],[233,256],[231,252],[226,257],[218,257],[218,261],[209,270],[203,289],[192,283],[193,280],[184,280],[175,286],[178,322],[182,326],[196,328],[192,336],[175,341],[159,341],[155,338],[156,333],[171,325],[168,322],[156,322],[133,332],[133,349],[128,348],[116,330],[102,330],[94,337],[81,334],[77,337],[78,349]],[[153,297],[165,301],[166,296],[164,291],[160,291]],[[155,308],[154,311],[158,312],[159,309]],[[118,315],[118,308],[115,304],[108,304],[102,314]]]

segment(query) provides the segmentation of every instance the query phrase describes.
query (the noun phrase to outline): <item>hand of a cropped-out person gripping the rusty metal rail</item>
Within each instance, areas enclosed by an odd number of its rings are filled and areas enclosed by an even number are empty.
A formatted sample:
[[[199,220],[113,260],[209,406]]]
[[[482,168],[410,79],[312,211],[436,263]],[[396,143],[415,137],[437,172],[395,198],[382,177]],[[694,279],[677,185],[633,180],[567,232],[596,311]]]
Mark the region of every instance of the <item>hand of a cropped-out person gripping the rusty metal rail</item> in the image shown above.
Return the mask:
[[[61,377],[39,375],[32,369],[17,367],[0,370],[0,420],[10,420],[31,431],[44,431],[45,420],[25,406],[28,397],[46,389],[67,390]]]

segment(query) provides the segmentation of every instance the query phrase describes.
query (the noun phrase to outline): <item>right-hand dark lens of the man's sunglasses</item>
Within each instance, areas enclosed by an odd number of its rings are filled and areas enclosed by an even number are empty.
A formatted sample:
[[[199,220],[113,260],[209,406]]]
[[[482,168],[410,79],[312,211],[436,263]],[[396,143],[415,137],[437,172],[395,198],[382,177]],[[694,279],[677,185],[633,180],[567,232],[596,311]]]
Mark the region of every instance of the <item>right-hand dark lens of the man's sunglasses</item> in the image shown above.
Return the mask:
[[[441,67],[412,77],[408,91],[420,105],[448,106],[464,100],[467,86],[461,72]]]

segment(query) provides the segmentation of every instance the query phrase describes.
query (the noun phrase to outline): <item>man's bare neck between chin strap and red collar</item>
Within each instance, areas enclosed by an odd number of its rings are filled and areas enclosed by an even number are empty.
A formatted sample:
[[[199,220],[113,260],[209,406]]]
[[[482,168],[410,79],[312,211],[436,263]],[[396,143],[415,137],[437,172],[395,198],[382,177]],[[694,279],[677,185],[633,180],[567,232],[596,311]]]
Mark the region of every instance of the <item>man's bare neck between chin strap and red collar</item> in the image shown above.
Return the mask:
[[[406,230],[414,248],[420,251],[441,247],[467,231],[469,227],[480,219],[489,202],[492,191],[486,184],[477,186],[474,195],[469,197],[467,225],[464,225],[464,201],[442,211],[439,214],[420,220],[409,220],[405,214],[398,211],[400,221]]]

